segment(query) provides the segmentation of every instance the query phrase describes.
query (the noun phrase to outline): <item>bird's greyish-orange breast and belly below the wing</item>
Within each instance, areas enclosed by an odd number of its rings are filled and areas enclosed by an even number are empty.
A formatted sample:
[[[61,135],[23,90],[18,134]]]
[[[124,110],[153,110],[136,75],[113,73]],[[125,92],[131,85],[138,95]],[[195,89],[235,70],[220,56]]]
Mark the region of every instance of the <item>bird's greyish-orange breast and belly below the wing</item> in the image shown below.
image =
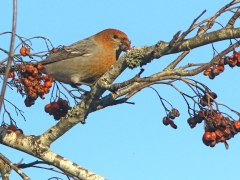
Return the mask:
[[[45,72],[57,81],[67,84],[92,83],[100,78],[116,62],[114,53],[98,53],[91,56],[75,57],[46,65]],[[72,82],[74,77],[74,81]]]

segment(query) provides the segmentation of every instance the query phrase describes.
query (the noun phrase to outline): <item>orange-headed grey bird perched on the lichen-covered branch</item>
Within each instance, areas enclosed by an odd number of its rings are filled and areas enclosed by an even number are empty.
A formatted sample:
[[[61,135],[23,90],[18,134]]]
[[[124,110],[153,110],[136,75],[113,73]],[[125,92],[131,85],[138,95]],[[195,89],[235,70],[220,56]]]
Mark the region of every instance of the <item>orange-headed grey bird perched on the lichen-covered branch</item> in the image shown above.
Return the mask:
[[[117,29],[105,29],[50,54],[41,63],[43,73],[72,86],[92,85],[130,49],[128,36]]]

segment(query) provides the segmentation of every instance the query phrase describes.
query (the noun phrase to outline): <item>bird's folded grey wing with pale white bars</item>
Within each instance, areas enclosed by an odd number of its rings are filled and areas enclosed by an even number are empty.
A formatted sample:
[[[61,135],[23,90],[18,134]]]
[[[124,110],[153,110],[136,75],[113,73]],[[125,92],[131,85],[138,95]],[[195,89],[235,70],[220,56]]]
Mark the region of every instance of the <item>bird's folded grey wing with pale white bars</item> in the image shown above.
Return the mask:
[[[91,37],[86,38],[73,43],[70,46],[66,46],[56,53],[50,54],[46,59],[41,61],[41,63],[46,65],[57,61],[67,60],[69,58],[91,56],[97,49],[96,46],[97,44],[92,40]]]

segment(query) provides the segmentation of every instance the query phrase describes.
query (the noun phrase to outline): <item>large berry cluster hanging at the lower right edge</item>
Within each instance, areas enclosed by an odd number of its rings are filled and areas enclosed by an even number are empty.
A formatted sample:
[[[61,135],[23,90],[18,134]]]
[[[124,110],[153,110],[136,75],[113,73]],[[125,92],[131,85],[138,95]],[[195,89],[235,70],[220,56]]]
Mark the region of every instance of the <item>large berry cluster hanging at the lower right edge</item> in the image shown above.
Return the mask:
[[[194,117],[190,117],[187,122],[191,128],[196,124],[205,122],[205,133],[203,143],[206,146],[214,147],[219,142],[226,143],[227,140],[240,132],[240,121],[231,121],[221,113],[210,110],[200,110]]]

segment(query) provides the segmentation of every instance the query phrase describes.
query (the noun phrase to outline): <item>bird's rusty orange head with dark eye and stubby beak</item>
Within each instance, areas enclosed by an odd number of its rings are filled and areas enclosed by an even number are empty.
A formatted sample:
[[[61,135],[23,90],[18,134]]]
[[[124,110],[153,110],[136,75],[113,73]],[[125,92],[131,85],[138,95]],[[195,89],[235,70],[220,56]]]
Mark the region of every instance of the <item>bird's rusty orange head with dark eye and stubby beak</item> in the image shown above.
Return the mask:
[[[130,49],[131,41],[127,35],[117,29],[105,29],[94,36],[94,40],[102,45],[106,50],[119,52]]]

